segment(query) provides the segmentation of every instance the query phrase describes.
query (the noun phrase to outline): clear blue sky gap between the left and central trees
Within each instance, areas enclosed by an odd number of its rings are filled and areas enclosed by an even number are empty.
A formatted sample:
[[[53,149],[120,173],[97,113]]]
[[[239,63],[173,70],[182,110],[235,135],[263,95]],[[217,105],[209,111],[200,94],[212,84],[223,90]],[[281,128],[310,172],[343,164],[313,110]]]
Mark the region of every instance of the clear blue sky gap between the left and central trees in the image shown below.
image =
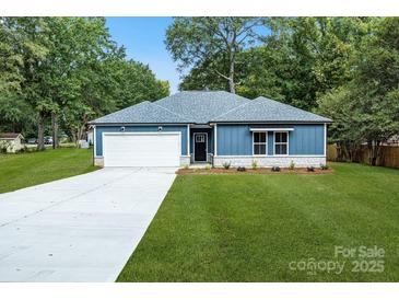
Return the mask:
[[[128,58],[150,66],[157,79],[171,83],[171,92],[177,92],[179,73],[177,64],[166,50],[165,32],[172,18],[107,18],[113,39],[124,45]]]

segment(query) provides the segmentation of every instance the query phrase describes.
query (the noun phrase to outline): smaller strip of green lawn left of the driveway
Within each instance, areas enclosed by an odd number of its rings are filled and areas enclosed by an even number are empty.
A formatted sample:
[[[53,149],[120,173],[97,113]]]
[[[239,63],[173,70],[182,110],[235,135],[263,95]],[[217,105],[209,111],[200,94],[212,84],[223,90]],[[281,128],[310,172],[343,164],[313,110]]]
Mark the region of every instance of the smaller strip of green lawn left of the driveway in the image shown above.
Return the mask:
[[[96,170],[93,150],[60,148],[23,154],[0,154],[0,193]]]

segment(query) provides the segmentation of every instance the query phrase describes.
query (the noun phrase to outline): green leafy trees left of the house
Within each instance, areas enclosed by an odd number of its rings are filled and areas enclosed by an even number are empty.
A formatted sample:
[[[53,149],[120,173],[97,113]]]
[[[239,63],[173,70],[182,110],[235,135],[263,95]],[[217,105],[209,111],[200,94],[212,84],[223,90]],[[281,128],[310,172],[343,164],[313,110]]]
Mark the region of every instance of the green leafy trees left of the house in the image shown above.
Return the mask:
[[[104,18],[1,18],[0,130],[32,135],[37,123],[47,131],[56,115],[77,140],[87,120],[168,93],[168,82],[126,58]]]

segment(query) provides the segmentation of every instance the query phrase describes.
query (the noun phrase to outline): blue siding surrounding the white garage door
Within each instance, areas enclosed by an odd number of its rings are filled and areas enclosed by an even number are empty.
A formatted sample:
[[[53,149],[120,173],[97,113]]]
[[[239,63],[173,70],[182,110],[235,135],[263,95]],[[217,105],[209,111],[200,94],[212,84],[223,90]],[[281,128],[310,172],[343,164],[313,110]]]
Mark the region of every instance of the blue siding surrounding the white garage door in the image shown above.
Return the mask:
[[[181,155],[187,155],[187,125],[160,125],[162,131],[181,132]],[[159,126],[125,126],[125,132],[156,132]],[[95,149],[96,157],[103,157],[103,132],[120,132],[120,126],[96,126],[95,128]]]

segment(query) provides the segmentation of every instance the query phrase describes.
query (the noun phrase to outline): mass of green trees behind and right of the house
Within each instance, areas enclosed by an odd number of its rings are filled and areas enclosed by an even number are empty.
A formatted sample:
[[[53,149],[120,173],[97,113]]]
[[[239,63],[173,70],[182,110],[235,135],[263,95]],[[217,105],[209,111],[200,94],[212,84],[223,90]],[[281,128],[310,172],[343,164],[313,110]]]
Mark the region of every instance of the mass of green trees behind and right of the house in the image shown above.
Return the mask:
[[[212,30],[224,28],[224,22],[183,18],[169,27],[167,48],[189,67],[180,90],[232,91],[220,76],[228,74],[230,50]],[[351,160],[367,143],[374,164],[379,146],[399,134],[399,19],[269,18],[260,26],[266,35],[250,35],[251,43],[235,48],[233,92],[332,118],[330,140],[341,158]]]

